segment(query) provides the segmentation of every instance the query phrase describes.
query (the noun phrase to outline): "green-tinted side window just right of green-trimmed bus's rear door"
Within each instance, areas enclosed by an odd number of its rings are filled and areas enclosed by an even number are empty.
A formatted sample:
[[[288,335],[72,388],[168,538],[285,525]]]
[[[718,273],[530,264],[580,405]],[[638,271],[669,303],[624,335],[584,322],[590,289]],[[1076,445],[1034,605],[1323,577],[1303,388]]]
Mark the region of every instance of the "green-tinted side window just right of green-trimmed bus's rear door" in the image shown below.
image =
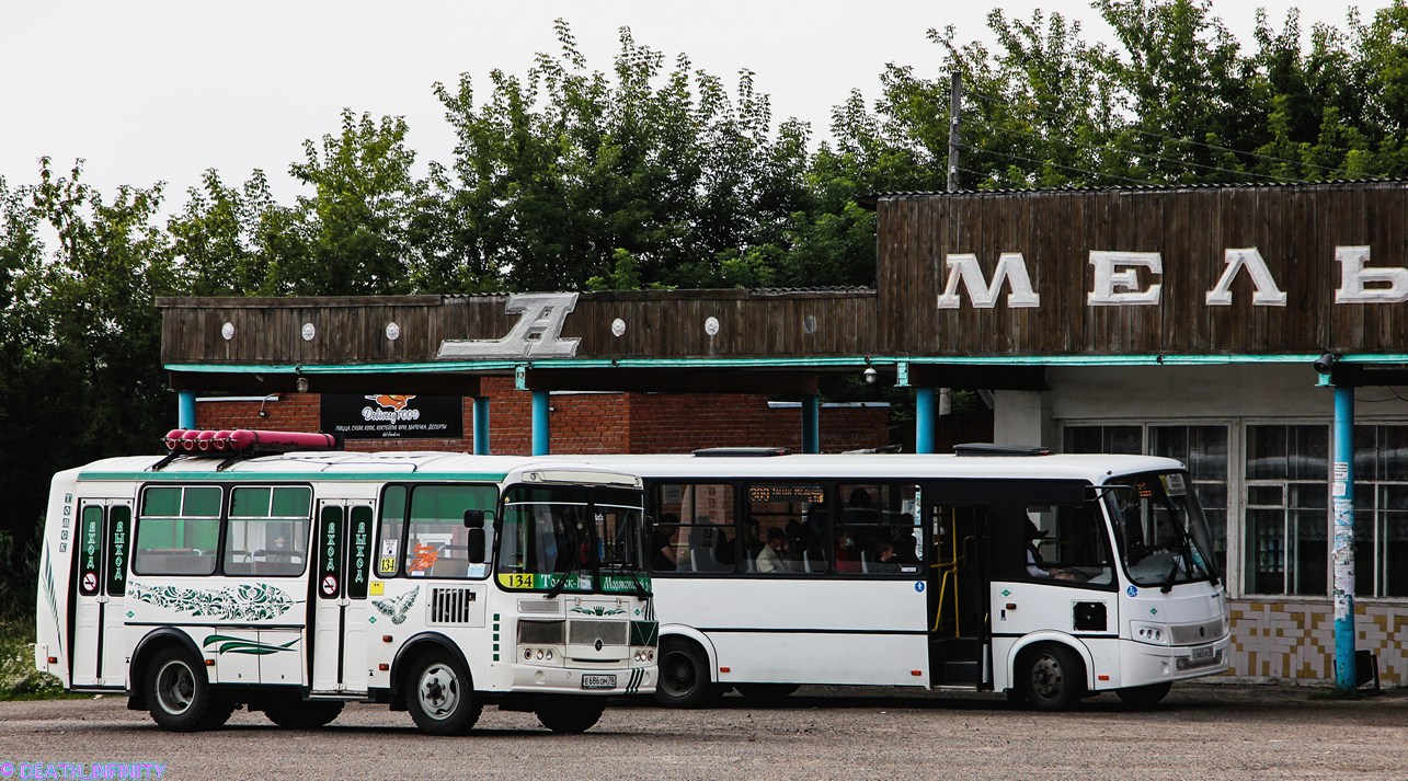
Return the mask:
[[[161,485],[142,493],[132,571],[139,576],[208,576],[215,571],[222,491],[213,485]]]

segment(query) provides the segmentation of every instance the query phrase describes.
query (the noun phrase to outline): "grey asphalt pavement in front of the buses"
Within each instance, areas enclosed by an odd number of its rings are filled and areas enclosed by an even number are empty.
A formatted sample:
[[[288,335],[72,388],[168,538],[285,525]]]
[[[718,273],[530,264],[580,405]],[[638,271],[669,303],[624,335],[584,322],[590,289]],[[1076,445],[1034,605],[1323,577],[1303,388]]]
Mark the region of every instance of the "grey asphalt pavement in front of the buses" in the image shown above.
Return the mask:
[[[701,711],[612,701],[573,736],[487,708],[467,737],[421,735],[373,705],[315,730],[241,711],[224,729],[173,735],[125,698],[0,702],[0,781],[103,778],[115,763],[146,778],[162,766],[161,781],[1408,778],[1408,690],[1359,701],[1316,691],[1184,684],[1152,711],[1107,694],[1035,713],[972,692],[804,687],[767,706],[738,695]]]

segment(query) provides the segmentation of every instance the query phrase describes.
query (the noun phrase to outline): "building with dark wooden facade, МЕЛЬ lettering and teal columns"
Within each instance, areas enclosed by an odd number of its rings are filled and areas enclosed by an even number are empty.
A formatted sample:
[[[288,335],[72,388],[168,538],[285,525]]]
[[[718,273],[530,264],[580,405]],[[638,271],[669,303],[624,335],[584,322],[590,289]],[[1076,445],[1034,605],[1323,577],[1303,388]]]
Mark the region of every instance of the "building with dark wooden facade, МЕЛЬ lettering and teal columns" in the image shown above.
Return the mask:
[[[1408,184],[872,205],[874,288],[159,300],[163,360],[191,422],[201,391],[483,398],[483,377],[511,377],[535,452],[553,391],[797,394],[815,452],[817,377],[870,369],[917,388],[932,452],[936,388],[988,390],[998,443],[1188,464],[1236,675],[1333,678],[1347,607],[1384,682],[1408,682]],[[473,404],[476,449],[489,407]],[[1335,431],[1353,436],[1343,473]],[[1336,500],[1357,560],[1338,598]]]

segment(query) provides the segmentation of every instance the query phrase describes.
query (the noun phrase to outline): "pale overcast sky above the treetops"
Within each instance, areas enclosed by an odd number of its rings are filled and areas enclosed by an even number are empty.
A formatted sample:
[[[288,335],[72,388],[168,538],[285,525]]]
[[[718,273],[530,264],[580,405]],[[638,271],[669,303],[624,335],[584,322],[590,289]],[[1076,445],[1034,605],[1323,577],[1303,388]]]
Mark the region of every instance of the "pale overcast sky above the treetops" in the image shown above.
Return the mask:
[[[1385,4],[1359,7],[1369,20]],[[1302,30],[1315,21],[1345,27],[1345,4],[1325,0],[1217,0],[1214,14],[1247,45],[1257,7],[1280,27],[1293,6]],[[797,117],[824,134],[831,107],[850,89],[877,94],[886,63],[938,75],[943,52],[926,30],[952,24],[962,41],[990,41],[993,7],[987,0],[0,0],[0,176],[10,186],[31,183],[39,156],[63,170],[83,158],[84,179],[104,194],[166,182],[166,208],[176,211],[204,169],[238,183],[260,167],[289,203],[298,191],[289,163],[301,158],[303,139],[338,131],[344,107],[404,115],[424,170],[427,160],[448,163],[453,148],[431,84],[465,72],[476,94],[487,94],[491,69],[524,73],[535,52],[558,51],[559,17],[591,69],[610,69],[617,31],[629,27],[636,42],[670,62],[686,52],[727,84],[739,69],[753,70],[774,118]],[[1087,39],[1110,39],[1081,1],[1002,7],[1024,18],[1033,8],[1059,11],[1080,20]]]

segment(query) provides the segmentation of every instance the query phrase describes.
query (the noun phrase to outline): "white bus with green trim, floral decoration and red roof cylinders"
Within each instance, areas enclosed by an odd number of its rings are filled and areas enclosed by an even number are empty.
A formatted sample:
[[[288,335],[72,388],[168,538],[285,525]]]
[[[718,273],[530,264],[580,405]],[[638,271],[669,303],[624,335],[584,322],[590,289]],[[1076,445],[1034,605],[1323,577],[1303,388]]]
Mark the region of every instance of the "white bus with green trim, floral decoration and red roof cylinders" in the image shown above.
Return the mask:
[[[638,477],[551,459],[96,462],[54,477],[35,661],[172,730],[360,701],[434,735],[486,704],[582,732],[655,685],[641,500]]]

